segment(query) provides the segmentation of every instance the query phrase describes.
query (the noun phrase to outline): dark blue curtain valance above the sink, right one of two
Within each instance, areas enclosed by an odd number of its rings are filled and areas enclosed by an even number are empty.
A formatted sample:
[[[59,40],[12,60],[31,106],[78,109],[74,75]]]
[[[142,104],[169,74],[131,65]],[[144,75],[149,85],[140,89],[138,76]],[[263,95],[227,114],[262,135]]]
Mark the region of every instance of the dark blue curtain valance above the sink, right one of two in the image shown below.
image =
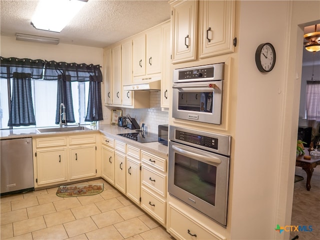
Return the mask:
[[[63,75],[67,81],[102,81],[100,65],[45,61],[43,79],[56,80]]]

